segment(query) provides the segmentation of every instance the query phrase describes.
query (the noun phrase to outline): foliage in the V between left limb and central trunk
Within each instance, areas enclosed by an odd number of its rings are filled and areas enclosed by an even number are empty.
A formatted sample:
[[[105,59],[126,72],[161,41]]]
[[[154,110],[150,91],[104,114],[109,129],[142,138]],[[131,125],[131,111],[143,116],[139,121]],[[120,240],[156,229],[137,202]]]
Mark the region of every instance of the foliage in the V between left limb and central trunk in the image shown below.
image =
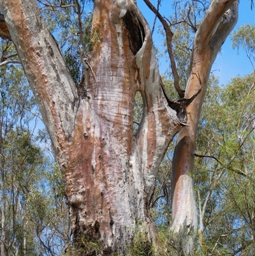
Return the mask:
[[[93,1],[80,1],[82,7],[82,27],[84,33],[85,55],[99,43],[99,31],[92,31]],[[75,84],[82,80],[82,64],[80,61],[80,31],[78,27],[77,14],[73,7],[73,1],[39,1],[43,17],[47,22],[48,29],[54,35],[59,50],[66,61],[71,77]]]

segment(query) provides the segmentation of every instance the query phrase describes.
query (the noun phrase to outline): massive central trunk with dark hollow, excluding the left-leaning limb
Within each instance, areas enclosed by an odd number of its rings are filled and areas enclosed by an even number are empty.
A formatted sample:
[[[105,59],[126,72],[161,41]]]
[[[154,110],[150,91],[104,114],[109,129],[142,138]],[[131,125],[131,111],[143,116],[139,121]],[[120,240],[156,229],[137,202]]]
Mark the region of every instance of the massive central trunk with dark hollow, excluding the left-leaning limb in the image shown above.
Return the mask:
[[[100,39],[91,54],[94,74],[65,153],[73,162],[66,183],[74,235],[99,239],[110,255],[127,252],[141,224],[152,243],[150,199],[159,163],[180,128],[162,96],[149,27],[135,4],[122,2],[94,3],[92,35]],[[134,137],[137,91],[144,113]]]

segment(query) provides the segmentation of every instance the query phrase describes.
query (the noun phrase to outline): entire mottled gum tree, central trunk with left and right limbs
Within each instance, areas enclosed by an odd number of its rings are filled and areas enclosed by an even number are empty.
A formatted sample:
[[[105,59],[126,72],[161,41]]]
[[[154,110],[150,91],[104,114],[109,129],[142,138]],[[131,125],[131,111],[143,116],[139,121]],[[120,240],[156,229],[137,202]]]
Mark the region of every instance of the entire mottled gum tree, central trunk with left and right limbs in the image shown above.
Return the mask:
[[[11,38],[17,48],[64,172],[73,238],[98,241],[101,255],[125,255],[137,229],[157,246],[150,200],[159,165],[176,134],[170,229],[176,237],[182,234],[181,250],[192,252],[198,217],[189,173],[198,119],[210,68],[238,17],[234,0],[211,1],[194,36],[184,94],[170,24],[144,1],[166,32],[179,101],[171,102],[164,93],[150,28],[135,0],[94,0],[92,33],[98,43],[89,56],[81,50],[82,86],[71,78],[36,0],[0,1],[2,37]],[[143,117],[133,135],[138,91]]]

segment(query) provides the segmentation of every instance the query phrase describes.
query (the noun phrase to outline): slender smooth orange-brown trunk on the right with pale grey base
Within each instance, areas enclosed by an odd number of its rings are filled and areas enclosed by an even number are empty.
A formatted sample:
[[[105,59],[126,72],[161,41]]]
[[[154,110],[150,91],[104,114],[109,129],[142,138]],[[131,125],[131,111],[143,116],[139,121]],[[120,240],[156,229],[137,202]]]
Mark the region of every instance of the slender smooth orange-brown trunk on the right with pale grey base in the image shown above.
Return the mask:
[[[186,108],[187,126],[177,134],[171,187],[173,205],[171,229],[182,236],[181,250],[186,254],[193,251],[194,237],[198,229],[191,174],[194,172],[194,149],[201,106],[212,64],[237,19],[237,1],[214,0],[194,38],[186,98],[196,93],[201,86],[202,88],[201,93]]]

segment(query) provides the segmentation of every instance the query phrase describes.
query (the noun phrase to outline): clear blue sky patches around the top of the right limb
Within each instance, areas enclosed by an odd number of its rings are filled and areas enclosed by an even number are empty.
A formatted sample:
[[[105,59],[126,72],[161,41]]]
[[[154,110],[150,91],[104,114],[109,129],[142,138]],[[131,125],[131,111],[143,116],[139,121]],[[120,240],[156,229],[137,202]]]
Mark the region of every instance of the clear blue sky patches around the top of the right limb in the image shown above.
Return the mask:
[[[154,6],[157,5],[157,0],[151,0],[151,2]],[[143,0],[137,0],[137,3],[145,19],[147,19],[147,22],[152,26],[155,17],[154,14],[143,3]],[[162,0],[159,11],[166,17],[174,13],[174,10],[171,8],[171,1]],[[240,0],[239,19],[233,31],[244,24],[255,24],[255,9],[253,8],[253,10],[251,10],[251,0]],[[155,45],[159,47],[159,49],[162,49],[164,38],[157,33],[157,27],[159,25],[160,22],[157,20],[153,40]],[[161,73],[164,73],[166,69],[169,68],[169,63],[166,63],[164,58],[159,61],[159,64]],[[240,49],[239,54],[237,54],[237,50],[232,49],[231,41],[228,38],[222,46],[221,53],[217,56],[217,59],[215,59],[212,70],[214,70],[214,75],[219,77],[220,84],[227,84],[230,82],[231,77],[251,73],[252,65],[246,57],[244,50]]]

